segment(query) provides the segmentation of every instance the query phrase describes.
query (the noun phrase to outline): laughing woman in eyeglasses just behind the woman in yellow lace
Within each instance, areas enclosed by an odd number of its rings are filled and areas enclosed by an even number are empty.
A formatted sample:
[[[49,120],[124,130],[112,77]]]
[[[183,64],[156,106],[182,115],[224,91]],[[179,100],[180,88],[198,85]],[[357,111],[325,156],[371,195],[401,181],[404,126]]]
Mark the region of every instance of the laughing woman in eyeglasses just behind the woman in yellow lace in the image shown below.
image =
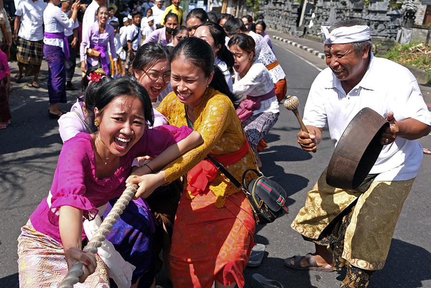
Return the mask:
[[[132,68],[136,81],[148,91],[153,107],[157,107],[162,101],[162,92],[165,93],[165,96],[172,92],[172,88],[170,88],[170,52],[166,46],[153,42],[142,45],[136,51]],[[166,117],[159,111],[153,109],[153,113],[153,127],[168,124]],[[162,265],[165,264],[168,276],[170,275],[169,251],[172,231],[181,191],[182,183],[174,181],[169,185],[159,187],[145,199],[158,222],[153,234],[156,249],[156,269],[159,272]],[[162,250],[163,260],[158,257]]]

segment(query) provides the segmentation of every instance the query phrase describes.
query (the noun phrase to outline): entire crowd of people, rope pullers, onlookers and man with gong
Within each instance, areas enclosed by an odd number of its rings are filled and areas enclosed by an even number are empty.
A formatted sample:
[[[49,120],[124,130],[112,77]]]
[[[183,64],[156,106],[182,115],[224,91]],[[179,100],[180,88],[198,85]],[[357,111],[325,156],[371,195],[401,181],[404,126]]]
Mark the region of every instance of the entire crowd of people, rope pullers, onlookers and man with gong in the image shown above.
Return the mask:
[[[90,288],[155,287],[163,266],[174,288],[242,288],[255,219],[245,194],[208,155],[238,181],[262,166],[264,136],[287,93],[266,24],[201,8],[183,19],[180,0],[168,7],[130,1],[122,13],[120,26],[117,7],[106,0],[88,7],[79,0],[20,0],[13,37],[10,26],[2,29],[18,46],[16,81],[34,76],[37,88],[43,56],[48,62],[49,117],[58,119],[64,142],[51,190],[21,228],[20,287],[57,287],[79,261],[79,282]],[[430,133],[431,115],[410,72],[371,53],[364,22],[322,29],[329,67],[310,89],[309,133],[298,133],[302,149],[317,150],[325,125],[336,145],[363,107],[390,126],[364,191],[330,187],[322,173],[291,225],[315,242],[316,253],[285,264],[326,272],[346,266],[340,287],[365,288],[385,263],[420,168],[416,139]],[[0,126],[7,127],[11,79],[0,48]],[[78,89],[72,84],[78,51],[81,90],[66,112],[58,103],[66,103],[67,89]],[[377,84],[376,75],[386,82]],[[397,85],[390,84],[394,78]],[[134,200],[98,253],[83,252],[131,184],[139,185]],[[395,208],[389,212],[388,205]]]

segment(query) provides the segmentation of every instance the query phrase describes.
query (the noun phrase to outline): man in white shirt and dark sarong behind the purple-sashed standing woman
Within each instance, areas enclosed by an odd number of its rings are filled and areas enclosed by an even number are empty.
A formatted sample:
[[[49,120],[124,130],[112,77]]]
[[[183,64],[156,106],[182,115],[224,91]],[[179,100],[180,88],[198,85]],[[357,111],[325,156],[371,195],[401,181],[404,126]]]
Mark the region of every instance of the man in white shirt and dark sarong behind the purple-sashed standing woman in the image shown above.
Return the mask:
[[[61,0],[61,12],[69,17],[73,0]],[[64,29],[64,36],[67,37],[69,42],[69,58],[64,59],[64,68],[66,70],[66,90],[78,90],[78,88],[72,84],[73,74],[75,74],[76,67],[76,42],[78,40],[78,27],[79,22],[76,21],[73,26],[73,31],[70,32],[68,29]]]

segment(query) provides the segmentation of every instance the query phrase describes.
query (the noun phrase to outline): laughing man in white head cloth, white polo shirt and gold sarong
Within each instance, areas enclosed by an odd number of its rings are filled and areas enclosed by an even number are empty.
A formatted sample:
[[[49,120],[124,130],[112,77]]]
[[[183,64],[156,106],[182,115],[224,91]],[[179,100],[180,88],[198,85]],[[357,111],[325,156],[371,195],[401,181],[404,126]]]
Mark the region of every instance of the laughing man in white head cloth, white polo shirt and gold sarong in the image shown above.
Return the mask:
[[[396,222],[422,161],[416,139],[430,133],[431,115],[412,73],[373,56],[370,28],[364,21],[343,20],[322,26],[322,32],[328,68],[311,85],[304,112],[309,133],[297,135],[301,148],[317,151],[326,124],[337,145],[349,122],[365,107],[390,125],[378,135],[383,149],[364,188],[331,187],[323,171],[291,224],[315,243],[316,253],[293,256],[285,265],[326,272],[345,265],[340,287],[364,288],[386,262]]]

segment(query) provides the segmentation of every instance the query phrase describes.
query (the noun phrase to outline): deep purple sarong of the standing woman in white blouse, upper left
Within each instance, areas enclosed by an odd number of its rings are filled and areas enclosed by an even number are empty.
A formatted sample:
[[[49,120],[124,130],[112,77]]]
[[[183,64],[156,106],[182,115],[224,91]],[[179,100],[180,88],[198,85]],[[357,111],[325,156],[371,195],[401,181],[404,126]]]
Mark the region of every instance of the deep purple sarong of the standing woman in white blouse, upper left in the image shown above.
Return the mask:
[[[48,61],[48,96],[50,104],[67,103],[66,68],[61,47],[43,45],[43,54]]]

